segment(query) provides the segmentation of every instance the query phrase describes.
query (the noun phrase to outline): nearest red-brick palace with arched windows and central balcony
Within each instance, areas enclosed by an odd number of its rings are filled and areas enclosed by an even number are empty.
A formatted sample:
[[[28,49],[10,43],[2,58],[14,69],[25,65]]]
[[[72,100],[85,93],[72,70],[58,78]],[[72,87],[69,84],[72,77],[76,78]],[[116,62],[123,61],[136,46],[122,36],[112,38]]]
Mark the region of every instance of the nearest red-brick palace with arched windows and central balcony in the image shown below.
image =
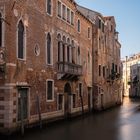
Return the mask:
[[[0,129],[92,109],[92,23],[73,0],[0,2]]]

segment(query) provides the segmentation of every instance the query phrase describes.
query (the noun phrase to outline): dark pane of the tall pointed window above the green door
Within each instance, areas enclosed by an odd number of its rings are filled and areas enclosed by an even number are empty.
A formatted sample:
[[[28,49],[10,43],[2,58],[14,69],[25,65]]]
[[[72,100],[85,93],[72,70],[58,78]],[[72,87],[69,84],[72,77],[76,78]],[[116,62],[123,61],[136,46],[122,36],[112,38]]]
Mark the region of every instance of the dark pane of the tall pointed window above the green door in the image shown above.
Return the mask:
[[[25,47],[24,47],[24,25],[20,20],[18,23],[18,58],[25,58]]]

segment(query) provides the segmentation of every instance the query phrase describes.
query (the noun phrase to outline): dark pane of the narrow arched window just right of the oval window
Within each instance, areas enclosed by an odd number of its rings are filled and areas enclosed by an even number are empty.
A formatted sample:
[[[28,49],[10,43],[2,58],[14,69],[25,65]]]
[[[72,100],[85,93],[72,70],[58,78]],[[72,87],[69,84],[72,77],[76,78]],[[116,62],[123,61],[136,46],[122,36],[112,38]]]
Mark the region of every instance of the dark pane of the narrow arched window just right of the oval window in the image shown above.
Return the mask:
[[[47,35],[47,64],[51,64],[51,35],[48,33]]]

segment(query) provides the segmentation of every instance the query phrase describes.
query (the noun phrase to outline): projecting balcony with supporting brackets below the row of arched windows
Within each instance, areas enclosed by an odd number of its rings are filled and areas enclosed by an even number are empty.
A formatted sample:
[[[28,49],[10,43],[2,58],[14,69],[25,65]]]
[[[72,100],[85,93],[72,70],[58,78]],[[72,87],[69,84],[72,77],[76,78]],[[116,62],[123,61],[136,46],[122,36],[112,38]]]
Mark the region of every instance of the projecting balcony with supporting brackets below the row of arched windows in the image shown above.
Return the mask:
[[[78,77],[82,75],[82,66],[69,62],[58,62],[57,72],[57,79],[78,80]]]

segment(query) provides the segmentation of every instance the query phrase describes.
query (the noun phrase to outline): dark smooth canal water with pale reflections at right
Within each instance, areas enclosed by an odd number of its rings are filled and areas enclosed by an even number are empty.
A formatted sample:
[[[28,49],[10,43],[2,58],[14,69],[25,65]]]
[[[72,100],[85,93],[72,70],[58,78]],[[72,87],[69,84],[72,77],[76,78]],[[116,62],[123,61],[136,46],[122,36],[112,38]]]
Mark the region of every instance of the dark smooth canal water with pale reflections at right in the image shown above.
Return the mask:
[[[124,98],[121,106],[0,138],[5,139],[140,140],[140,100]]]

